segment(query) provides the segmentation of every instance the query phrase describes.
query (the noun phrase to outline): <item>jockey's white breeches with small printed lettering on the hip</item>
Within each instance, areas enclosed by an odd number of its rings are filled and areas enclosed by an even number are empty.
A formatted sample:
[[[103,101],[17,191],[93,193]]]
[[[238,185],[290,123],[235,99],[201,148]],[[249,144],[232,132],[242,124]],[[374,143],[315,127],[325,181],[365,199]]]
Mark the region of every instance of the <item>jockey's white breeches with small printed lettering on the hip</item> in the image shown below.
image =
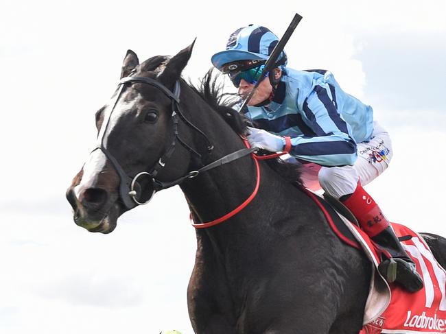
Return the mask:
[[[322,189],[339,199],[353,193],[357,182],[366,185],[388,167],[392,160],[392,142],[388,132],[377,122],[373,123],[372,138],[368,142],[357,143],[357,160],[353,166],[321,167],[318,178]]]

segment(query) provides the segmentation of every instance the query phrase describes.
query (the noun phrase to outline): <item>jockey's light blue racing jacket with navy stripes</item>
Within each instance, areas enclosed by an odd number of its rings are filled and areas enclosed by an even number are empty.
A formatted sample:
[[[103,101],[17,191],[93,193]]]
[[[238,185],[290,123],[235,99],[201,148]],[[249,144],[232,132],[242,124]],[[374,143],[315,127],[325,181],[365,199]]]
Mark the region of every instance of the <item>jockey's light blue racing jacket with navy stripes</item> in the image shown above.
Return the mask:
[[[290,154],[323,166],[353,165],[373,132],[373,109],[345,93],[329,71],[285,68],[272,102],[248,107],[258,128],[290,136]]]

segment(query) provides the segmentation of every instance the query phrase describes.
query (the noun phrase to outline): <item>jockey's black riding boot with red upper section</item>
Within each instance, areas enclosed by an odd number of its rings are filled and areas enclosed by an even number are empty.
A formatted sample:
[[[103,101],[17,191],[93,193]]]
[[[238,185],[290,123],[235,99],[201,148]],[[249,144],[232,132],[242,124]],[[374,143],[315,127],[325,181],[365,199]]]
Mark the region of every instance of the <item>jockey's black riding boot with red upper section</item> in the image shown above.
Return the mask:
[[[423,279],[416,272],[414,261],[401,246],[379,206],[361,184],[358,183],[355,192],[342,196],[340,201],[355,215],[362,230],[382,251],[384,259],[379,264],[378,270],[386,281],[398,283],[410,292],[423,288]]]

